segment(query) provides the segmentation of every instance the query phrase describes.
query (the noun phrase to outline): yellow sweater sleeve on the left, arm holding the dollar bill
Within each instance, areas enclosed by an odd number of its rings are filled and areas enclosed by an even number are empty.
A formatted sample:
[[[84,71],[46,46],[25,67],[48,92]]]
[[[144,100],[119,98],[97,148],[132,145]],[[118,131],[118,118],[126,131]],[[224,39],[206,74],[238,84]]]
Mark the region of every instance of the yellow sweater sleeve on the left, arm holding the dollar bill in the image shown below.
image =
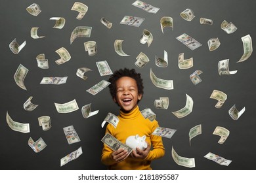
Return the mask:
[[[107,125],[105,134],[106,133],[110,133],[110,135],[112,135],[111,125]],[[104,165],[108,166],[108,165],[114,165],[114,163],[116,163],[111,158],[112,152],[113,150],[111,148],[109,148],[106,144],[103,144],[101,162]]]

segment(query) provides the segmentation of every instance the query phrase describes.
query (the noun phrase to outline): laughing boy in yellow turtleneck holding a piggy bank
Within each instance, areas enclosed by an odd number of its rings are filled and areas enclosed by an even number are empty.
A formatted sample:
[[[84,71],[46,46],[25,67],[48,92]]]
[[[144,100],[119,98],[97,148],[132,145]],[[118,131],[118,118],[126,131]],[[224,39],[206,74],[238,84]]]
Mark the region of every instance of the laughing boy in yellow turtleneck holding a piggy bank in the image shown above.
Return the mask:
[[[110,133],[123,143],[131,135],[146,135],[148,147],[145,150],[136,148],[128,156],[127,150],[120,148],[113,151],[104,144],[101,161],[108,169],[152,169],[151,161],[161,158],[165,154],[165,149],[161,137],[152,135],[156,127],[159,127],[158,122],[145,119],[138,107],[143,94],[142,78],[135,69],[125,68],[115,71],[108,81],[111,83],[109,88],[112,99],[121,109],[117,116],[117,127],[108,124],[106,133]]]

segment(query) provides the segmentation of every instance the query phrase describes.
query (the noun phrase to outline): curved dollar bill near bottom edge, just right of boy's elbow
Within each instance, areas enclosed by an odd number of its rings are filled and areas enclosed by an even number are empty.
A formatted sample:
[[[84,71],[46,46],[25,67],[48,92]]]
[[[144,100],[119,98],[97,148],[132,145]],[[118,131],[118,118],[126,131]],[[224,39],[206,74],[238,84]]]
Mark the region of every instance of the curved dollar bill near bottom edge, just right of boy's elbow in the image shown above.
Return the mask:
[[[185,158],[185,157],[179,156],[177,152],[174,150],[173,146],[171,148],[171,156],[173,157],[173,160],[175,161],[175,163],[177,163],[178,165],[181,165],[183,167],[188,167],[188,168],[196,167],[194,158]]]

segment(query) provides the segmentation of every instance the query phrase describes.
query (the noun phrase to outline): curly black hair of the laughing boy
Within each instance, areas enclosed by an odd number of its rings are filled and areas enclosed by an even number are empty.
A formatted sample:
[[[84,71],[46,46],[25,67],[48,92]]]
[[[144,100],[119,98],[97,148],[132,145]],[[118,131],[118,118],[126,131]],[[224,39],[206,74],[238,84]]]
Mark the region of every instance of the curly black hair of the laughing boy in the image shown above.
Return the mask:
[[[130,78],[135,79],[136,83],[137,83],[137,87],[138,87],[138,93],[139,95],[143,95],[143,82],[142,82],[142,78],[140,77],[140,73],[136,73],[135,69],[119,69],[117,71],[114,72],[113,75],[110,76],[110,78],[108,79],[108,82],[110,82],[110,85],[108,86],[110,88],[110,94],[112,95],[113,99],[116,99],[116,81],[123,77],[123,76],[128,76]],[[139,100],[138,102],[139,103]]]

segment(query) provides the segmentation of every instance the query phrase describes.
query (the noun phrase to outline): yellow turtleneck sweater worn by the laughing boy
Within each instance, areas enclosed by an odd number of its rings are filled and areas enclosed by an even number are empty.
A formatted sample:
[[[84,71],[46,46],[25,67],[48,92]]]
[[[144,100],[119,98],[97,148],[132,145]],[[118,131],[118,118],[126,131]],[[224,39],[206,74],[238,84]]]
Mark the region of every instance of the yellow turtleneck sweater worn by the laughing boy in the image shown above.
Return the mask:
[[[108,169],[151,169],[151,161],[161,158],[165,154],[161,137],[152,135],[156,127],[159,127],[158,122],[156,120],[151,122],[145,119],[138,106],[129,113],[120,110],[120,114],[117,117],[119,118],[117,127],[115,128],[112,124],[108,124],[106,133],[110,133],[124,144],[127,137],[131,135],[138,134],[140,137],[146,135],[146,142],[150,144],[152,150],[150,150],[148,156],[144,159],[132,158],[129,155],[125,160],[116,163],[111,159],[113,150],[104,144],[101,157],[102,163],[108,165]]]

